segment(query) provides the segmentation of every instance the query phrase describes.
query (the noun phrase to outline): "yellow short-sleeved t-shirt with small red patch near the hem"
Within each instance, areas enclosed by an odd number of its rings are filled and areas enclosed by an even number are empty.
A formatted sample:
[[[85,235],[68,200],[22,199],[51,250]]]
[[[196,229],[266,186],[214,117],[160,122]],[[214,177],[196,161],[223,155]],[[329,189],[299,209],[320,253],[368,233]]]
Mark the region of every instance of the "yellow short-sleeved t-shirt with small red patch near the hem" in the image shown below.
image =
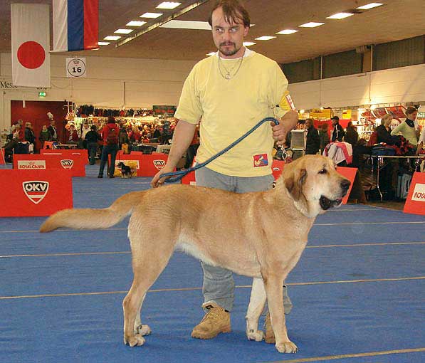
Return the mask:
[[[201,119],[196,162],[205,162],[263,118],[285,114],[282,102],[288,80],[278,63],[249,51],[234,75],[240,61],[220,59],[219,64],[217,56],[205,58],[194,65],[184,82],[174,117],[192,124]],[[234,78],[225,79],[226,70]],[[207,167],[234,177],[271,174],[273,143],[270,122],[265,122]]]

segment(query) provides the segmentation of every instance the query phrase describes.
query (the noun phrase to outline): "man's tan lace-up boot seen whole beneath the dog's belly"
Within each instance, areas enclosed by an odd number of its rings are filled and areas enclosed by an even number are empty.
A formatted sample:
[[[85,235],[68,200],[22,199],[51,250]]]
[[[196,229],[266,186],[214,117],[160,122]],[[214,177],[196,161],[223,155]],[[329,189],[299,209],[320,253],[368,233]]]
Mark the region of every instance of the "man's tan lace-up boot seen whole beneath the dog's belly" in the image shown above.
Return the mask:
[[[219,335],[221,332],[230,332],[230,313],[226,312],[223,307],[216,305],[214,302],[206,302],[202,305],[208,312],[202,318],[194,330],[191,337],[198,339],[211,339]]]

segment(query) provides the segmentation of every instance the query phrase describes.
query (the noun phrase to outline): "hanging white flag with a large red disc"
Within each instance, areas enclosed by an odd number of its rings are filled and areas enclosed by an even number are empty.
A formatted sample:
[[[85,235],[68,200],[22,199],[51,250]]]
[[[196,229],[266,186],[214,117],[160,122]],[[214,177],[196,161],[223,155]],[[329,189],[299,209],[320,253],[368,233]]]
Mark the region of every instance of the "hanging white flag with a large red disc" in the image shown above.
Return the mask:
[[[50,87],[48,4],[11,4],[12,83]]]

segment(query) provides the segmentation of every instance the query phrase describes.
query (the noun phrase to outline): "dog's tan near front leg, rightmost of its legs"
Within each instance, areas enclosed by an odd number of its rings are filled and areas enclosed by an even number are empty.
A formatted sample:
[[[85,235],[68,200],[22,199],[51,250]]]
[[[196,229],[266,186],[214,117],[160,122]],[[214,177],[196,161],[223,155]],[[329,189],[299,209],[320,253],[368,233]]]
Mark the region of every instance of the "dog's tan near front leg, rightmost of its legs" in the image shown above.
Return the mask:
[[[263,275],[266,288],[268,310],[271,315],[271,326],[276,337],[276,349],[280,353],[295,353],[297,346],[288,338],[285,314],[283,310],[283,278],[274,274]]]

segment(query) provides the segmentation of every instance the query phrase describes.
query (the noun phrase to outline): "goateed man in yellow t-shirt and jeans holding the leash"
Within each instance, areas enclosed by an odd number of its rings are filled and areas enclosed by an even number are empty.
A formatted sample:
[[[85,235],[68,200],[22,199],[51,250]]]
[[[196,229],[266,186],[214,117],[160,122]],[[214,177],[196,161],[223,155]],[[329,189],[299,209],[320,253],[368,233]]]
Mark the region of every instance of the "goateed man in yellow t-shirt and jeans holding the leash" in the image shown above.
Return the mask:
[[[196,170],[199,186],[236,193],[271,189],[273,142],[283,144],[286,134],[298,122],[298,113],[287,92],[288,80],[275,61],[243,46],[250,19],[238,0],[216,1],[209,23],[218,52],[194,65],[184,82],[175,114],[179,123],[168,162],[151,185],[163,184],[162,174],[174,170],[189,147],[199,120],[196,162],[205,162],[263,118],[274,116],[279,125],[261,125],[229,152]],[[202,263],[202,268],[206,316],[194,328],[192,337],[209,339],[230,330],[234,280],[224,268],[206,263]],[[291,304],[286,289],[284,307],[288,313]]]

